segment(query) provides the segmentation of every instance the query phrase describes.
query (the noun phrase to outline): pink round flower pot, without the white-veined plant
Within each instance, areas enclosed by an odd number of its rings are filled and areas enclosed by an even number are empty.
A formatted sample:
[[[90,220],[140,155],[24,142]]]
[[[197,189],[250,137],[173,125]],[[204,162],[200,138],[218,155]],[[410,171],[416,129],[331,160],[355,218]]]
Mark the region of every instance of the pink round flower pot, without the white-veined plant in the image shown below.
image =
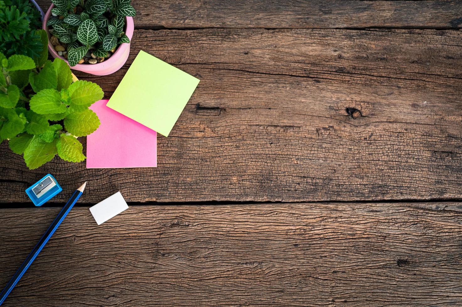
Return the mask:
[[[43,30],[47,31],[47,34],[48,34],[48,51],[54,58],[60,58],[61,60],[65,60],[66,63],[69,64],[69,62],[67,62],[65,58],[58,55],[58,52],[55,51],[54,46],[50,42],[51,35],[48,32],[47,22],[51,16],[51,9],[53,7],[55,7],[54,4],[50,6],[47,13],[45,14],[45,18],[43,18],[43,26],[42,26]],[[126,17],[125,20],[126,20],[125,34],[128,36],[128,38],[131,41],[132,36],[133,36],[133,30],[134,30],[133,18]],[[112,54],[109,59],[104,60],[101,63],[77,64],[76,66],[71,66],[71,68],[75,70],[79,70],[81,72],[91,73],[92,75],[106,76],[106,75],[109,75],[111,73],[118,71],[127,61],[128,54],[130,54],[130,44],[123,43],[117,47],[116,52],[114,52],[114,54]]]

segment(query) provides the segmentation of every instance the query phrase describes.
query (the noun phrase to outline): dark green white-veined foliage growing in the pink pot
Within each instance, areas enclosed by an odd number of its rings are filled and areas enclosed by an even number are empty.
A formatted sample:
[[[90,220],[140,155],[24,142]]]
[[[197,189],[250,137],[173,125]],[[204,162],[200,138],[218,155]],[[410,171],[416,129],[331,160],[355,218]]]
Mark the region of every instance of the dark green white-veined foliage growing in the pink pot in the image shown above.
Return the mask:
[[[52,2],[56,7],[51,12],[57,18],[49,19],[47,25],[53,28],[53,36],[59,40],[59,45],[67,47],[69,65],[75,66],[79,61],[82,63],[82,59],[89,52],[93,54],[94,59],[102,61],[109,57],[110,52],[119,44],[130,42],[124,32],[125,17],[135,16],[130,0]],[[96,62],[95,60],[90,63]]]

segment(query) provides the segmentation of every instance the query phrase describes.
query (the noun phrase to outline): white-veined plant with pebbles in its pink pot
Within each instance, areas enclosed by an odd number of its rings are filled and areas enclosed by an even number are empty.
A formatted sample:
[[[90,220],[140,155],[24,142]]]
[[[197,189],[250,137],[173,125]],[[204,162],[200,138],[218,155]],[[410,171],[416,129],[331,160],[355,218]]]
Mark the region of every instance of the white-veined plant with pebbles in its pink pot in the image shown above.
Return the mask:
[[[43,29],[49,52],[94,75],[119,70],[128,59],[135,10],[130,0],[52,0]]]

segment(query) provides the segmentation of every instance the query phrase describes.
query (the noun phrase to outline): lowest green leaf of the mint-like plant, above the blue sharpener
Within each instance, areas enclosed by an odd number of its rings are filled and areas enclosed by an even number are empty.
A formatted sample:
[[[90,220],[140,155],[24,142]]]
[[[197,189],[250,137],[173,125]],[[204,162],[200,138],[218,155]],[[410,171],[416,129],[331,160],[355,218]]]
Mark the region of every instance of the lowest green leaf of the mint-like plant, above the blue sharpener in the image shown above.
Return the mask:
[[[34,136],[29,146],[24,150],[24,161],[29,169],[36,169],[51,161],[58,153],[56,142],[47,143]]]

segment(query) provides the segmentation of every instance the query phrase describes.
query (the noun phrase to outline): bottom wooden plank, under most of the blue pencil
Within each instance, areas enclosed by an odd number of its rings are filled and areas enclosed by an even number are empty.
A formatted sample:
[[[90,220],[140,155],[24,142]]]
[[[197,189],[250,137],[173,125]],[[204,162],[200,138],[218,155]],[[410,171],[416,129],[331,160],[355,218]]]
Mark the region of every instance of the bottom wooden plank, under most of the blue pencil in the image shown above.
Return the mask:
[[[0,287],[59,208],[0,215]],[[460,306],[462,204],[74,208],[8,306]]]

